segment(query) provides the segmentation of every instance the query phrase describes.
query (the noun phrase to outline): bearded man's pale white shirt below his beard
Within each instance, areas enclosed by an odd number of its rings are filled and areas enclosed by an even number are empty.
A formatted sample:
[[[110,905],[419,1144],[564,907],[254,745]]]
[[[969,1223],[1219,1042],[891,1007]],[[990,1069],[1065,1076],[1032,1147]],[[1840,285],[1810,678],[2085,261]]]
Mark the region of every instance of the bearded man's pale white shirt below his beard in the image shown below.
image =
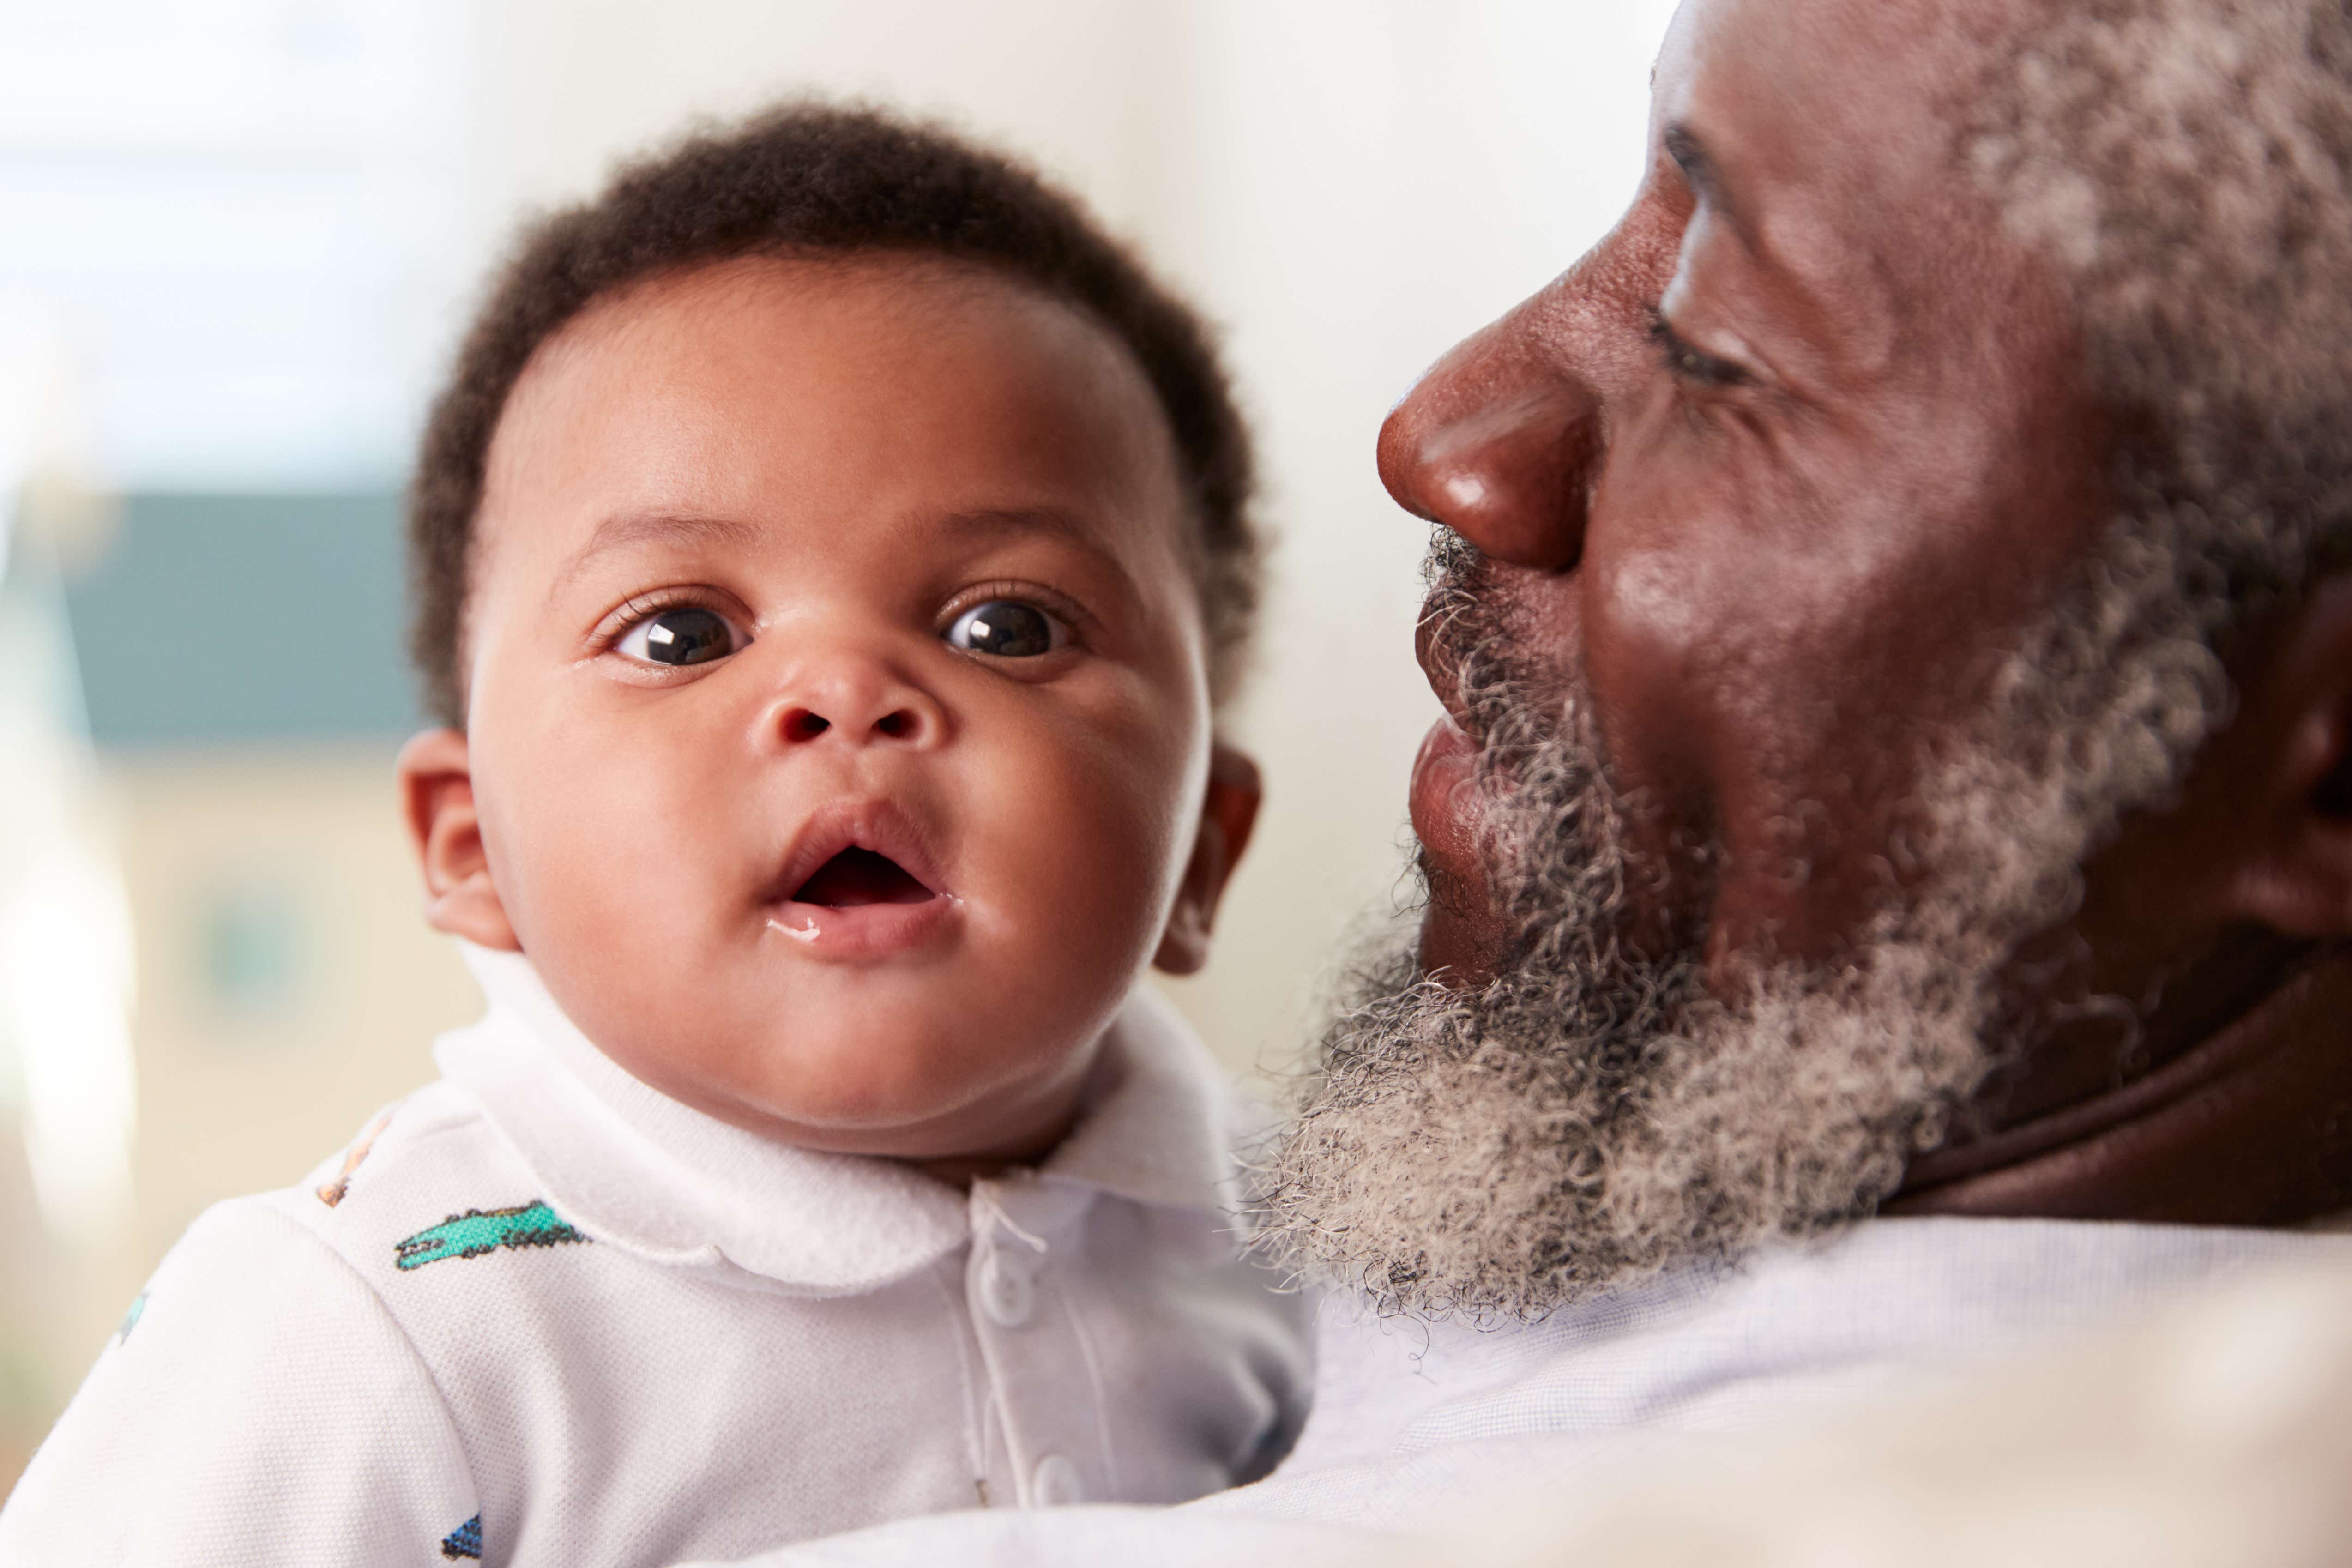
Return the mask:
[[[1418,1549],[1411,1542],[1428,1530],[1461,1533],[1472,1516],[1597,1507],[1621,1486],[1651,1483],[1639,1495],[1656,1500],[1656,1479],[1703,1453],[1696,1443],[1738,1436],[1771,1443],[1875,1399],[1919,1396],[1938,1380],[1983,1375],[2067,1335],[2129,1328],[2171,1295],[2293,1265],[2352,1267],[2352,1239],[2098,1220],[1889,1218],[1818,1246],[1773,1246],[1738,1267],[1675,1269],[1538,1324],[1378,1319],[1331,1295],[1322,1309],[1315,1415],[1268,1481],[1178,1509],[967,1512],[724,1561],[731,1568],[1583,1566],[1573,1552],[1508,1556],[1496,1540]],[[2020,1432],[2018,1441],[2037,1436]],[[1592,1559],[1590,1568],[1606,1561]],[[1926,1559],[1823,1549],[1769,1561]],[[2246,1561],[2314,1559],[2249,1554]]]

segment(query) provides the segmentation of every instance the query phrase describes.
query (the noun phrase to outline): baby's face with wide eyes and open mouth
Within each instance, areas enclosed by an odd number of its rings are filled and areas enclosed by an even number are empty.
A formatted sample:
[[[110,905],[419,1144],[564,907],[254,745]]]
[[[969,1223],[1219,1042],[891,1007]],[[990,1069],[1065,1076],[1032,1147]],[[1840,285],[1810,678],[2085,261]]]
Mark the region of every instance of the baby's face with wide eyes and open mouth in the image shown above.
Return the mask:
[[[1202,813],[1185,529],[1141,369],[1009,282],[760,259],[602,301],[480,512],[466,750],[513,940],[741,1126],[1051,1133]]]

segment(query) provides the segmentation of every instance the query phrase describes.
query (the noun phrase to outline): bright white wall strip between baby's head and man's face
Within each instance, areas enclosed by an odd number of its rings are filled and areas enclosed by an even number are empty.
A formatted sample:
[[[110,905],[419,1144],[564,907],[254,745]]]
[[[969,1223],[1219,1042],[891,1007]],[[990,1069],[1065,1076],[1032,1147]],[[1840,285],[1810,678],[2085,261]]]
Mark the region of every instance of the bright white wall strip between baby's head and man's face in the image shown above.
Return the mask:
[[[1261,842],[1209,973],[1174,987],[1235,1065],[1284,1060],[1350,919],[1399,891],[1437,717],[1411,658],[1428,531],[1374,473],[1414,376],[1541,287],[1632,193],[1663,5],[1214,0],[1155,139],[1145,233],[1230,327],[1282,545],[1237,715]]]

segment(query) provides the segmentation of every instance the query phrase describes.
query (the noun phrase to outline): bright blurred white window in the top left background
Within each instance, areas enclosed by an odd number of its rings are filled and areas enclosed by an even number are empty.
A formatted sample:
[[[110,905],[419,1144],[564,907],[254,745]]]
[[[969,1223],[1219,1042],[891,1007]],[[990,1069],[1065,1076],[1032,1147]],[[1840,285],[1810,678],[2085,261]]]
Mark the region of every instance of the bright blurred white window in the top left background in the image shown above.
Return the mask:
[[[0,9],[0,294],[120,489],[397,480],[468,266],[463,0]]]

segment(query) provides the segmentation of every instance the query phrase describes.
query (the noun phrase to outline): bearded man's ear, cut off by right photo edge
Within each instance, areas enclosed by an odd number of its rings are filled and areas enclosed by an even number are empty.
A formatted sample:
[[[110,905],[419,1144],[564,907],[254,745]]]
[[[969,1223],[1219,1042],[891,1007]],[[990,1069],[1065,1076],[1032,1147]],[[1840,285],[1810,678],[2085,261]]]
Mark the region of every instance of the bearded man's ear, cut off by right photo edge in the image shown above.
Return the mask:
[[[2218,750],[2246,835],[2225,912],[2300,938],[2352,936],[2352,574],[2288,611]],[[2260,682],[2260,684],[2256,684]]]

